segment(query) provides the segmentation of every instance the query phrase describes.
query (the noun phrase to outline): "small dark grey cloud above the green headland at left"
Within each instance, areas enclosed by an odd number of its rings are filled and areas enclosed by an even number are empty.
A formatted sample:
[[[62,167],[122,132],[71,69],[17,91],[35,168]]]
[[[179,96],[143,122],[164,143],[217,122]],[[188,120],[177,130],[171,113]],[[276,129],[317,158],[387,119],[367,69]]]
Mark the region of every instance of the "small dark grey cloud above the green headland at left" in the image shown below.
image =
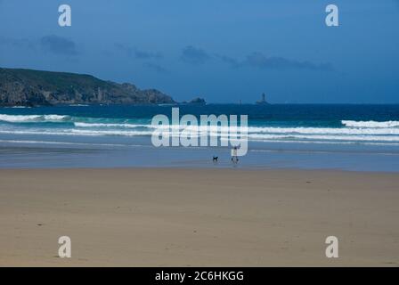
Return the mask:
[[[40,46],[45,52],[49,53],[64,55],[77,54],[75,42],[65,37],[58,37],[55,35],[42,37],[40,39]]]

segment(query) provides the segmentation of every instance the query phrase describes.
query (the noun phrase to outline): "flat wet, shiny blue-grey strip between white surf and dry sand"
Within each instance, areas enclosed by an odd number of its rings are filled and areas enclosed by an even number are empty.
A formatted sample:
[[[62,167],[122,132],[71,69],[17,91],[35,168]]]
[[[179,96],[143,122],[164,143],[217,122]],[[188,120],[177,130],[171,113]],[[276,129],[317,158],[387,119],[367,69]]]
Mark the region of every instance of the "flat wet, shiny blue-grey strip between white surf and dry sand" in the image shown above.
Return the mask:
[[[69,138],[74,140],[75,138]],[[249,149],[238,165],[232,165],[228,148],[156,148],[147,140],[123,139],[121,145],[107,138],[105,144],[17,146],[0,143],[0,169],[22,168],[212,168],[229,169],[326,169],[362,172],[399,172],[397,147],[385,146],[289,146],[273,142]],[[113,139],[112,139],[113,140]],[[80,141],[78,141],[80,142]],[[118,144],[114,144],[117,143]],[[102,142],[100,142],[102,143]],[[110,144],[112,143],[112,144]],[[217,156],[215,164],[212,158]]]

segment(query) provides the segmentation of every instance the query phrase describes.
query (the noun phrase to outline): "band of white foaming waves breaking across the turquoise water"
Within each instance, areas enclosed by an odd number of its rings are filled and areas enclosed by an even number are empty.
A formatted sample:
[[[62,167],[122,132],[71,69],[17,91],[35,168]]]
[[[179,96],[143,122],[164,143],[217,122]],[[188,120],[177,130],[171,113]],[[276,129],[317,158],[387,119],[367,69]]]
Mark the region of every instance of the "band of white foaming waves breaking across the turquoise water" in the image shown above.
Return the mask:
[[[5,124],[1,124],[1,123]],[[43,124],[51,122],[54,124]],[[32,124],[26,124],[32,123]],[[240,125],[239,125],[240,126]],[[88,118],[69,115],[0,114],[0,134],[45,134],[80,136],[151,136],[157,126],[151,119]],[[170,136],[185,129],[194,136],[225,138],[226,126],[160,126]],[[187,133],[186,133],[187,134]],[[248,126],[248,140],[264,142],[395,142],[399,143],[399,121],[336,121],[329,126],[267,126],[267,122]]]

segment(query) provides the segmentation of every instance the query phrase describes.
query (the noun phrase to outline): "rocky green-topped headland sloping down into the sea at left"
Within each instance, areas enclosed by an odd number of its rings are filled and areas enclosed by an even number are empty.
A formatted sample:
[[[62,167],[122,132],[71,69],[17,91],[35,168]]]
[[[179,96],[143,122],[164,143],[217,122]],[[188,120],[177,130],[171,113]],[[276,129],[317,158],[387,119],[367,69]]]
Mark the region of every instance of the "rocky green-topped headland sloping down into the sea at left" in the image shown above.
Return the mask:
[[[0,69],[0,106],[158,104],[175,101],[155,89],[103,81],[85,74]]]

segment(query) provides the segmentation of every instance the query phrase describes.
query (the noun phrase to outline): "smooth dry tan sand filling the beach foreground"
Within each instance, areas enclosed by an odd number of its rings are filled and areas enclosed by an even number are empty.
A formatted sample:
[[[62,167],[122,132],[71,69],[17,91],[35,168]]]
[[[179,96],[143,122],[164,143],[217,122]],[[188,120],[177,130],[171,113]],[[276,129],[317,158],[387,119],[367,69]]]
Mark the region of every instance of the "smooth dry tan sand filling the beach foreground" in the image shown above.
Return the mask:
[[[0,170],[1,266],[399,265],[399,176]],[[69,236],[72,257],[58,256]],[[325,256],[336,236],[339,257]]]

